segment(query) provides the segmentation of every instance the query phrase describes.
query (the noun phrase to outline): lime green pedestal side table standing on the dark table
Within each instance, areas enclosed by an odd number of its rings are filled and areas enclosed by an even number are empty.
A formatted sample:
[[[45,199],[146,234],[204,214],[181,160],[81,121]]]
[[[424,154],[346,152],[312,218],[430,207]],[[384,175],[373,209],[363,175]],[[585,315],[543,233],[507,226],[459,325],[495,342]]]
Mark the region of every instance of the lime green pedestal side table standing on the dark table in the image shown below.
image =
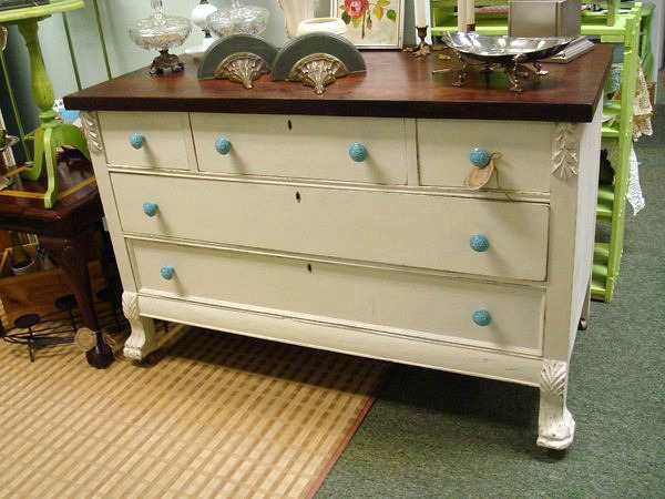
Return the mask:
[[[44,207],[50,208],[58,196],[58,175],[55,174],[57,149],[62,145],[72,145],[90,159],[88,144],[81,130],[70,124],[62,124],[58,113],[53,111],[55,100],[53,86],[47,74],[44,60],[39,44],[38,22],[51,14],[66,12],[84,7],[83,0],[51,0],[45,6],[24,7],[0,11],[0,26],[17,24],[25,39],[30,54],[30,71],[32,98],[41,110],[39,119],[41,125],[34,132],[34,162],[29,165],[21,176],[37,180],[42,175],[45,164],[48,173],[48,189],[43,196]]]

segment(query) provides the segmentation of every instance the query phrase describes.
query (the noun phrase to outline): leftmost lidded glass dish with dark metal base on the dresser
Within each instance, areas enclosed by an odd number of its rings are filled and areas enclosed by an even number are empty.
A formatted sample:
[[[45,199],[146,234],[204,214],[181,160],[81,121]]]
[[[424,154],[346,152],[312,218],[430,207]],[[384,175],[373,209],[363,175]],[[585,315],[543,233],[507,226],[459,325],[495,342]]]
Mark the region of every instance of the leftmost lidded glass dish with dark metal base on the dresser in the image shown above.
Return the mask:
[[[192,32],[192,22],[180,16],[166,16],[162,11],[162,0],[151,0],[151,4],[153,14],[132,24],[130,38],[142,49],[160,51],[150,67],[151,74],[164,70],[182,71],[185,65],[177,55],[168,53],[168,49],[184,43]]]

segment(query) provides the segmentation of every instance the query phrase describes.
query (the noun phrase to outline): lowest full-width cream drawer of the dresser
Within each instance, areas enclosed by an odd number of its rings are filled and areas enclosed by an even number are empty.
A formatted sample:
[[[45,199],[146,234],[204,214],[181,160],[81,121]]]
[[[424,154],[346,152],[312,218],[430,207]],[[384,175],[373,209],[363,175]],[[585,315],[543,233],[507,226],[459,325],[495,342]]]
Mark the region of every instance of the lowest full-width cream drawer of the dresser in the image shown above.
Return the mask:
[[[542,349],[541,288],[143,240],[130,248],[143,294],[424,340]]]

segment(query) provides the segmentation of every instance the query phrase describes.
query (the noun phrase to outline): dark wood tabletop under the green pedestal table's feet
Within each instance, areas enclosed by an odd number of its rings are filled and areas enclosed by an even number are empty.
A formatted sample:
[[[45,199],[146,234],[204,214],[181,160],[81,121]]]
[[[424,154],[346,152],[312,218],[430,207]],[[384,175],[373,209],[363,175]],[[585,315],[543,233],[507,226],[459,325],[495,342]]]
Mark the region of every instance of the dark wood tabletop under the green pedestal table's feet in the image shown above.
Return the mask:
[[[74,156],[75,152],[69,154],[61,154],[58,164],[61,193],[94,175],[88,160]],[[8,191],[44,193],[47,182],[45,177],[40,181],[17,177]],[[102,216],[102,202],[95,182],[58,200],[52,208],[44,207],[43,198],[0,195],[0,228],[6,231],[74,237],[96,224]]]

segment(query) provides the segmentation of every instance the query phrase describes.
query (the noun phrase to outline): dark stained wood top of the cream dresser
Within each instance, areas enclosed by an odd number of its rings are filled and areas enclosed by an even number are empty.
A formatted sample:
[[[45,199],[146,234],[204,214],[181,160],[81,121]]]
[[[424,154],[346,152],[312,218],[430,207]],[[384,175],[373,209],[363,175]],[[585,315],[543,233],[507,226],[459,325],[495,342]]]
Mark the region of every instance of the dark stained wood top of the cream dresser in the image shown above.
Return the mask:
[[[612,47],[596,45],[550,71],[538,86],[508,90],[508,77],[471,72],[463,88],[450,73],[432,74],[447,62],[401,51],[362,52],[366,73],[349,74],[323,95],[296,82],[263,75],[246,90],[226,80],[197,80],[197,64],[184,58],[181,73],[151,77],[147,69],[115,78],[64,98],[68,109],[185,111],[258,114],[317,114],[378,118],[450,118],[590,122],[600,102]]]

